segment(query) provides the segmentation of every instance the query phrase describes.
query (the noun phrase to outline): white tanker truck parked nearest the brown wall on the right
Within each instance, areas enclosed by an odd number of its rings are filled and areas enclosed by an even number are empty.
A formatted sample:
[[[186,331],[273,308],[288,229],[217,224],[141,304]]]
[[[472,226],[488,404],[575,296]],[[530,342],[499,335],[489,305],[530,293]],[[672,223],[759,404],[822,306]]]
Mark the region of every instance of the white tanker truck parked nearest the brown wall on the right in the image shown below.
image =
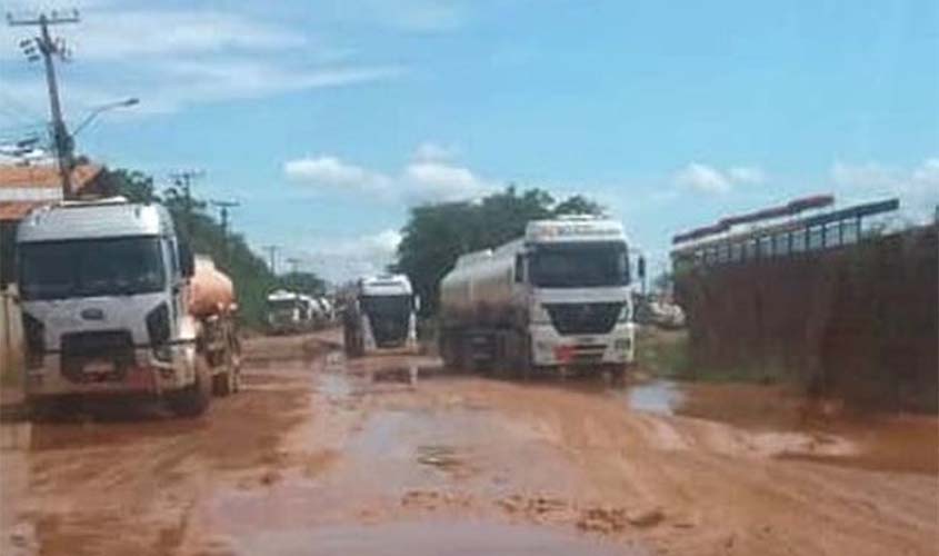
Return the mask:
[[[443,277],[441,357],[523,376],[571,369],[622,378],[635,356],[630,282],[620,222],[529,222],[523,237],[464,255]]]

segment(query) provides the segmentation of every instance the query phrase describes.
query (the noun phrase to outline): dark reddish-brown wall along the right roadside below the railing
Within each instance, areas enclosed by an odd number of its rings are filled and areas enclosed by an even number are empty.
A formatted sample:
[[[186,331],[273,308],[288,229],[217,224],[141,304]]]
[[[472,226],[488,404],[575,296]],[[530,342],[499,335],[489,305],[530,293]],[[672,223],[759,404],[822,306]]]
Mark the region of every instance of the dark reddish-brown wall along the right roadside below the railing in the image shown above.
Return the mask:
[[[939,411],[937,237],[932,226],[680,276],[692,366],[791,377],[865,407]]]

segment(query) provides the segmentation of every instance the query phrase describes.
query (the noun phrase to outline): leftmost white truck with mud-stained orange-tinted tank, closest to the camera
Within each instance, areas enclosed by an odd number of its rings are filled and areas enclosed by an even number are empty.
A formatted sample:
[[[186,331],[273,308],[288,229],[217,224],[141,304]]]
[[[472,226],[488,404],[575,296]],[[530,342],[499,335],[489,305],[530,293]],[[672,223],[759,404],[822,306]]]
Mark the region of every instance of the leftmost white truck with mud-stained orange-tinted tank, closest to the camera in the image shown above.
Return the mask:
[[[231,280],[177,237],[160,205],[122,198],[30,212],[17,232],[24,388],[67,397],[147,395],[203,414],[240,386]]]

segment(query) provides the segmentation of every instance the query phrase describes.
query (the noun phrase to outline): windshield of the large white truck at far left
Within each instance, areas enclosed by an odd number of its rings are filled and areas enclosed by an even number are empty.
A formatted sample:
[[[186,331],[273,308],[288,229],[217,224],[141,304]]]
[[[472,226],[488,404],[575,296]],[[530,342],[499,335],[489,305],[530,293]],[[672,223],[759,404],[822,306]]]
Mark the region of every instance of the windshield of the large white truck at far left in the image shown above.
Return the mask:
[[[23,299],[147,294],[166,285],[157,237],[42,241],[19,247]]]

